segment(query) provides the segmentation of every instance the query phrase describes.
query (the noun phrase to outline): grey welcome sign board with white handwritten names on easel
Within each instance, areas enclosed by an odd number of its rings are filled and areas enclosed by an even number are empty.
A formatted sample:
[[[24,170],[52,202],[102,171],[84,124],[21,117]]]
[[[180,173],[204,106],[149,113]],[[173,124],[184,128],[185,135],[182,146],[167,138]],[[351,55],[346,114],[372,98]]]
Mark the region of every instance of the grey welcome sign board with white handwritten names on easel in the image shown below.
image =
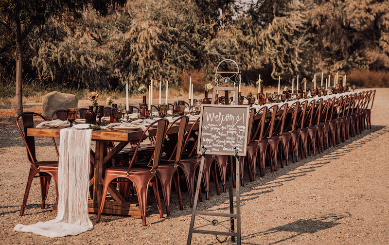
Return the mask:
[[[197,153],[246,156],[248,105],[201,105]]]

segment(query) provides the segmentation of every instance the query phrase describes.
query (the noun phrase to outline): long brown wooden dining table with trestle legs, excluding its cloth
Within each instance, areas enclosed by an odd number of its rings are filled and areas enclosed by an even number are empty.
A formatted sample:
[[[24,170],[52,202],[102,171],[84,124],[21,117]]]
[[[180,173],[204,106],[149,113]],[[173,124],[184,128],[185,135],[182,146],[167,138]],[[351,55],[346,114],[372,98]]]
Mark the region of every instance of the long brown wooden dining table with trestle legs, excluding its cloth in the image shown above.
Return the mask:
[[[187,130],[192,127],[192,123],[189,123]],[[196,126],[195,126],[196,127]],[[178,132],[178,124],[171,128],[172,133]],[[197,123],[198,129],[198,123]],[[34,137],[54,137],[59,138],[58,128],[28,128],[27,136]],[[108,164],[113,157],[115,157],[123,148],[132,140],[139,140],[142,135],[142,130],[129,130],[123,131],[108,131],[108,130],[97,130],[92,131],[92,140],[96,141],[95,152],[90,151],[90,161],[93,164],[94,173],[93,177],[89,181],[89,187],[92,188],[91,199],[88,200],[88,211],[97,213],[100,208],[103,191],[103,180],[106,164]],[[149,136],[153,136],[156,133],[156,129],[149,130]],[[108,141],[119,142],[113,149],[108,151]],[[112,195],[114,201],[106,202],[104,205],[103,213],[106,214],[119,214],[129,215],[135,218],[141,218],[141,211],[138,203],[129,203],[124,197],[116,190],[114,184],[108,186],[108,191]],[[53,205],[53,209],[56,209],[56,204]]]

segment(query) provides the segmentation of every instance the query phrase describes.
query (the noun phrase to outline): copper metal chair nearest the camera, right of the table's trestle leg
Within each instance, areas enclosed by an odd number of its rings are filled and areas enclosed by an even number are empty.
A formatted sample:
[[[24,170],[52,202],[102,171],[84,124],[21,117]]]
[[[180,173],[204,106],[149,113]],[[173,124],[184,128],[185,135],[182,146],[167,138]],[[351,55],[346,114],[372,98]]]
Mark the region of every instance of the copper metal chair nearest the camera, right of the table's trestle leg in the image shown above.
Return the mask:
[[[157,128],[153,128],[153,125],[157,124]],[[141,216],[142,216],[142,225],[146,225],[146,205],[147,205],[147,192],[149,183],[152,182],[152,187],[154,190],[154,195],[157,200],[157,207],[159,210],[159,216],[162,218],[162,208],[159,198],[159,191],[158,191],[158,181],[157,181],[157,174],[156,170],[159,166],[159,160],[162,153],[162,142],[164,139],[164,135],[167,129],[167,126],[169,124],[169,121],[167,119],[160,119],[154,123],[151,123],[146,130],[142,133],[141,138],[139,140],[139,143],[135,149],[134,155],[130,161],[130,164],[128,167],[126,166],[120,166],[120,167],[113,167],[106,169],[106,174],[104,177],[104,183],[103,183],[103,192],[102,192],[102,200],[100,204],[99,212],[97,213],[97,222],[100,221],[101,213],[104,209],[104,205],[106,202],[106,192],[108,190],[108,185],[116,178],[127,178],[129,181],[131,181],[136,189],[137,196],[138,196],[138,203],[139,208],[141,210]],[[156,142],[155,142],[155,150],[153,153],[153,156],[150,160],[141,160],[138,162],[135,162],[137,159],[137,153],[138,149],[141,145],[141,142],[146,139],[146,132],[148,132],[150,129],[156,130]],[[148,165],[149,168],[137,168],[133,167],[134,164],[141,164],[141,165]]]

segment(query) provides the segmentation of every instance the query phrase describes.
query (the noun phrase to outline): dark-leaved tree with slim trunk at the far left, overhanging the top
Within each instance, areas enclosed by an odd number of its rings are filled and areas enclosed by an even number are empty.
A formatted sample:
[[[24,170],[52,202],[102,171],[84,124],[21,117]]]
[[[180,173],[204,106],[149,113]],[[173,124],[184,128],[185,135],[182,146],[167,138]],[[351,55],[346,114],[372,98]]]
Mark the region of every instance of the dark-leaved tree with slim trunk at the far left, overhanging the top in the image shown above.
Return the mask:
[[[35,28],[42,26],[49,18],[68,12],[77,17],[86,6],[106,14],[113,5],[124,5],[125,0],[1,0],[0,25],[12,40],[16,50],[16,108],[18,115],[23,111],[22,70],[23,42]]]

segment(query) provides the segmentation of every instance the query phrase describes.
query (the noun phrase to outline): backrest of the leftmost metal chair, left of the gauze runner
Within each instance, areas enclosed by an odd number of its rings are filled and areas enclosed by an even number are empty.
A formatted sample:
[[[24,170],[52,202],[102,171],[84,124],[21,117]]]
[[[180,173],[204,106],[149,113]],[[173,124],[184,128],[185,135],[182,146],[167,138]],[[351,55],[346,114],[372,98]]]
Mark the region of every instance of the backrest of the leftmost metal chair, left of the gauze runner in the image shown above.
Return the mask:
[[[16,125],[18,126],[24,144],[26,145],[28,160],[31,164],[35,165],[35,167],[38,167],[35,163],[35,138],[34,136],[27,136],[27,129],[34,127],[34,116],[40,120],[47,121],[45,117],[38,113],[23,112],[18,115],[16,119]]]

